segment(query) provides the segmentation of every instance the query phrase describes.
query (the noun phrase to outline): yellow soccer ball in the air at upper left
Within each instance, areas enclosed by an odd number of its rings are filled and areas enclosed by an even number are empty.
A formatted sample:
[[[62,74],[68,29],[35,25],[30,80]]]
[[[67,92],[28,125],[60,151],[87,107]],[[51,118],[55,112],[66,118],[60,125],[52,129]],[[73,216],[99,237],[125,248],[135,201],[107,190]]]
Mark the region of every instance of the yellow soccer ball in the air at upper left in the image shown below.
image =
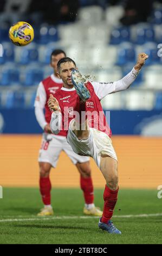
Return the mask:
[[[9,38],[14,45],[28,45],[34,39],[34,29],[29,23],[19,21],[10,27]]]

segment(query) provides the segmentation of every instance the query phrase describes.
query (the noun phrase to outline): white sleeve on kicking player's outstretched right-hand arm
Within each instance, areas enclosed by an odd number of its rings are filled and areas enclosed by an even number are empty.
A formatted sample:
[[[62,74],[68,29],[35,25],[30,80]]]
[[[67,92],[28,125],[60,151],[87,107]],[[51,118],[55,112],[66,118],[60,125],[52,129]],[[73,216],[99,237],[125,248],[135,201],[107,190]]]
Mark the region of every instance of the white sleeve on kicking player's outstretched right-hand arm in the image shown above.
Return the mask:
[[[121,92],[121,90],[128,89],[138,76],[139,71],[134,68],[121,80],[115,82],[92,82],[95,94],[99,99],[103,99],[108,94]]]

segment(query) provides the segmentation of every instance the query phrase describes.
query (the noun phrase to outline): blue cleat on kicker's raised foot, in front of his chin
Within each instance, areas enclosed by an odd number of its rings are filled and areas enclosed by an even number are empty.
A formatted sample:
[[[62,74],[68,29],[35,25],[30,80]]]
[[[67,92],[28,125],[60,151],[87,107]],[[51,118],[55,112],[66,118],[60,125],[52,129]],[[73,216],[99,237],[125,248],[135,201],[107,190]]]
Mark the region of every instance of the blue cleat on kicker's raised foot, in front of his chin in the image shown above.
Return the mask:
[[[89,90],[84,84],[84,80],[80,72],[76,69],[72,70],[72,83],[75,87],[77,95],[79,95],[82,101],[86,101],[90,97]]]

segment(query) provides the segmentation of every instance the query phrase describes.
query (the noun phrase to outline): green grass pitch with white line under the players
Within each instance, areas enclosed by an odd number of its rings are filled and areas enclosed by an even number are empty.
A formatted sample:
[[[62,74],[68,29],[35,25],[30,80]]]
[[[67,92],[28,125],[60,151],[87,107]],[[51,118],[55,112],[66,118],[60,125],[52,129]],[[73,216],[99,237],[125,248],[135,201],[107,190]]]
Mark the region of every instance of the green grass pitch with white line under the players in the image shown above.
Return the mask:
[[[51,199],[55,215],[37,217],[42,207],[38,188],[4,187],[0,243],[162,243],[162,199],[156,190],[119,191],[113,222],[121,235],[99,229],[98,217],[83,217],[79,188],[53,188]],[[102,208],[103,189],[95,189],[95,205]]]

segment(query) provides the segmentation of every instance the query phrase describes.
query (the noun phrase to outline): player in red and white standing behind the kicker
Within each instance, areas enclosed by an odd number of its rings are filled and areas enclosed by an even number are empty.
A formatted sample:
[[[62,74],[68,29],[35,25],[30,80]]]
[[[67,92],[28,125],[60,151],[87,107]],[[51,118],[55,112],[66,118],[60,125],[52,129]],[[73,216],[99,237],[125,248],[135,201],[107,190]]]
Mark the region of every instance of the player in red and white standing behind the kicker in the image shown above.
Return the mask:
[[[51,53],[50,65],[54,69],[54,74],[40,82],[37,88],[35,99],[35,115],[38,123],[44,130],[42,137],[42,146],[38,162],[40,166],[40,192],[42,201],[44,203],[43,209],[38,213],[38,216],[53,215],[53,208],[51,206],[51,182],[49,178],[51,167],[56,167],[60,153],[63,150],[70,157],[76,168],[80,172],[80,185],[85,198],[85,208],[83,212],[87,215],[101,216],[102,211],[94,205],[93,182],[91,178],[91,170],[89,164],[89,157],[79,156],[72,150],[72,147],[66,141],[66,131],[60,131],[58,135],[51,134],[50,118],[51,111],[48,108],[47,100],[50,93],[55,94],[62,87],[62,80],[57,77],[57,62],[66,56],[62,50],[54,50]],[[68,102],[63,99],[63,102]],[[43,109],[45,108],[45,116]]]

